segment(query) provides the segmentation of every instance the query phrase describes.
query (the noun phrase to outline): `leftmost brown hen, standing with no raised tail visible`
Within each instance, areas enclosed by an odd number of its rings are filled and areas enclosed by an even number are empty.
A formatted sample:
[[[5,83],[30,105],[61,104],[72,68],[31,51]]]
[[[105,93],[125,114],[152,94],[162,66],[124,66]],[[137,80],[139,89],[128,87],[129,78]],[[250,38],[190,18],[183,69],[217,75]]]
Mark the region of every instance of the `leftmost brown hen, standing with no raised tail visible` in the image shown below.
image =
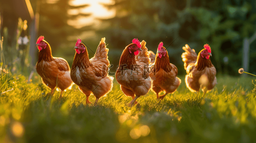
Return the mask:
[[[51,47],[44,40],[44,36],[37,39],[36,47],[39,49],[39,58],[35,67],[42,77],[42,83],[52,89],[50,95],[53,94],[57,84],[57,87],[61,90],[59,97],[61,98],[62,92],[73,84],[70,78],[69,64],[63,58],[52,56]]]

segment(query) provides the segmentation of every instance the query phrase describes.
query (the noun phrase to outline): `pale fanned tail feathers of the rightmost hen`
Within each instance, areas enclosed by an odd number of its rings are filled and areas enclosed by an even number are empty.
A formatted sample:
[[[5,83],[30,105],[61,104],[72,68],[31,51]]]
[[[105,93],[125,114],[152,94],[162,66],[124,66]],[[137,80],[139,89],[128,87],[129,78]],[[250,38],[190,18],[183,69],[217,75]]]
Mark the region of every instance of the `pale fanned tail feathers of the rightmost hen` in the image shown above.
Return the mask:
[[[182,61],[184,61],[184,69],[187,69],[187,66],[190,63],[195,63],[197,61],[197,54],[194,49],[190,49],[188,44],[185,45],[185,47],[182,47],[182,49],[185,51],[182,53]]]

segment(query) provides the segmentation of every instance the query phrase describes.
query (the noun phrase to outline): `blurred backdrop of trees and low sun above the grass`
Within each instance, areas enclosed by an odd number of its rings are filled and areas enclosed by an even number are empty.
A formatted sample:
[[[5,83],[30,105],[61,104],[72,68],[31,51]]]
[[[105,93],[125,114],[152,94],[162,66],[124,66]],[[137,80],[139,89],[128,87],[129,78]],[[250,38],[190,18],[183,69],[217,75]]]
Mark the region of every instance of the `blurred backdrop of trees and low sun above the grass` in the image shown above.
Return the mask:
[[[256,74],[253,0],[3,0],[0,14],[3,43],[10,47],[4,51],[9,56],[5,62],[20,62],[27,71],[37,62],[34,45],[43,35],[53,56],[69,65],[77,38],[91,58],[106,37],[115,71],[123,49],[138,38],[153,52],[162,41],[179,74],[185,74],[182,47],[189,44],[199,52],[205,43],[212,48],[218,74],[238,76],[241,67]]]

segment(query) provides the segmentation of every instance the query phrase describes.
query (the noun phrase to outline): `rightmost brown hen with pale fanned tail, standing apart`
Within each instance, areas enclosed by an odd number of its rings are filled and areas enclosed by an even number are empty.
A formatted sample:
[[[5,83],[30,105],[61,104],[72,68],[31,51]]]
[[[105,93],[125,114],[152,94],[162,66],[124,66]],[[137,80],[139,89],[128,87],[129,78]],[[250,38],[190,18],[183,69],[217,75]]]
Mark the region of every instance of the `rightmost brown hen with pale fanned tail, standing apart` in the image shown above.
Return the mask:
[[[211,47],[205,44],[204,49],[198,55],[187,44],[182,49],[186,51],[181,55],[187,72],[185,77],[186,86],[191,92],[198,92],[201,88],[205,95],[217,83],[216,69],[210,59],[210,56],[212,56]]]

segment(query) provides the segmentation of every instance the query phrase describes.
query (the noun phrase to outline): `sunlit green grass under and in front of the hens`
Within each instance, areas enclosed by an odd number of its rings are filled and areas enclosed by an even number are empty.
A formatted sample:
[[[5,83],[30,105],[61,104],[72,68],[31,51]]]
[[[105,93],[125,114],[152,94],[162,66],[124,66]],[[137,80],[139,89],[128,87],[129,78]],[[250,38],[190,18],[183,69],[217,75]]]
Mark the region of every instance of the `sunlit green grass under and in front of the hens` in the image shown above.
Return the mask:
[[[20,143],[84,142],[256,142],[256,100],[252,77],[218,76],[217,86],[191,93],[182,84],[164,101],[149,92],[138,99],[141,107],[129,108],[115,82],[98,106],[86,105],[76,85],[47,98],[49,89],[34,74],[32,82],[23,75],[0,78],[0,141]],[[94,96],[90,97],[94,102]]]

